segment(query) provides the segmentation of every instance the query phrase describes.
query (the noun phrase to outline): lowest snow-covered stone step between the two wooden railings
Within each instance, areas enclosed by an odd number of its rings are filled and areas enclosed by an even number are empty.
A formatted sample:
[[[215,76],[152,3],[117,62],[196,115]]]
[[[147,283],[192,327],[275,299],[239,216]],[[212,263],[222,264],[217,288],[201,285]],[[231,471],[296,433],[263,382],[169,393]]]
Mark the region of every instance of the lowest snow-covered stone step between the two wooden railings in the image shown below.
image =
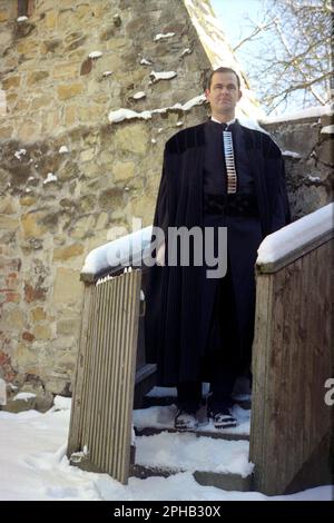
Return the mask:
[[[214,443],[213,435],[204,432],[178,433],[151,427],[136,431],[136,453],[130,475],[140,478],[168,477],[190,472],[200,485],[226,491],[252,490],[253,465],[248,463],[247,440],[229,438],[229,434],[218,436],[219,441]]]

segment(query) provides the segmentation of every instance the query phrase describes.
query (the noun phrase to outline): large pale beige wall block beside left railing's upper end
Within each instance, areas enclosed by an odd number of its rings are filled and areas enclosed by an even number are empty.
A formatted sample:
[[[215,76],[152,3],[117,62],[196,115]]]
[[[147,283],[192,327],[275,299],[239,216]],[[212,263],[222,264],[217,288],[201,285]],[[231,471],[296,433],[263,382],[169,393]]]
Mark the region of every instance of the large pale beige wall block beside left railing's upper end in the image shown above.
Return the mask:
[[[84,286],[80,282],[80,272],[58,267],[53,284],[53,302],[56,305],[77,304],[81,298]]]

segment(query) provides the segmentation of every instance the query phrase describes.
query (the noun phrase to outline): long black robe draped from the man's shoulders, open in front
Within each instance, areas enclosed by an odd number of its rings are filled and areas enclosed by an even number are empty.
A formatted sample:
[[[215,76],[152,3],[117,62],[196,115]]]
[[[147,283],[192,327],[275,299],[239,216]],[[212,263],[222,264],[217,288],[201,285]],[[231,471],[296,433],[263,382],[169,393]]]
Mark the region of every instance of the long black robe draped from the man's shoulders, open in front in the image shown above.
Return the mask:
[[[203,196],[210,124],[184,129],[166,144],[154,226],[204,227]],[[228,256],[242,349],[248,351],[247,329],[254,310],[254,263],[262,239],[289,220],[282,154],[265,132],[237,124],[238,147],[246,155],[250,178],[246,186],[256,195],[259,218],[228,218]],[[222,146],[223,147],[223,146]],[[240,151],[239,151],[240,152]],[[239,156],[240,158],[242,156]],[[238,162],[237,162],[238,167]],[[248,174],[249,175],[249,174]],[[246,187],[245,186],[245,187]],[[226,186],[222,186],[226,190]],[[167,250],[168,245],[166,246]],[[209,310],[202,300],[204,268],[154,266],[146,289],[145,343],[147,362],[158,364],[158,384],[200,378]],[[213,286],[210,283],[209,285]],[[212,287],[214,288],[214,287]],[[212,293],[214,299],[214,292]]]

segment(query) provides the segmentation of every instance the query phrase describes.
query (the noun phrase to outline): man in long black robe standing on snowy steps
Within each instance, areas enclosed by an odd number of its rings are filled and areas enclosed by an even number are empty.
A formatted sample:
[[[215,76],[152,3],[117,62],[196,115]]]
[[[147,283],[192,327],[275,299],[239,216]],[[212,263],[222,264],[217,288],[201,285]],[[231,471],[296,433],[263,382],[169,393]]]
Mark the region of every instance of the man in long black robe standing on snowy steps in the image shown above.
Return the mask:
[[[175,427],[196,430],[202,382],[210,383],[208,416],[235,426],[230,394],[250,364],[256,251],[263,238],[289,220],[282,154],[272,138],[235,119],[240,81],[229,68],[213,71],[206,98],[212,118],[166,144],[154,227],[165,233],[146,289],[146,348],[158,384],[177,386]],[[208,278],[207,266],[168,265],[168,228],[227,227],[227,273]],[[190,256],[191,258],[191,256]]]

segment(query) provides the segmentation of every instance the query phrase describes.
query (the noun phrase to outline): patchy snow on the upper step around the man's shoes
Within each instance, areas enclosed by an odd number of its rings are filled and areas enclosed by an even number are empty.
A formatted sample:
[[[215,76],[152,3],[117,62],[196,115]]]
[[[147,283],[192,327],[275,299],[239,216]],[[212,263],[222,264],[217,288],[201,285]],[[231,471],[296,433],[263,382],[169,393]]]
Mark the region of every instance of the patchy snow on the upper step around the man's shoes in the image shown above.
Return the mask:
[[[213,422],[200,424],[200,430],[205,432],[214,432],[219,434],[239,434],[249,435],[250,411],[235,405],[232,409],[234,416],[238,421],[238,426],[233,428],[215,428]],[[176,405],[154,406],[134,411],[134,425],[141,430],[145,427],[154,428],[174,428],[174,418],[177,413]]]

